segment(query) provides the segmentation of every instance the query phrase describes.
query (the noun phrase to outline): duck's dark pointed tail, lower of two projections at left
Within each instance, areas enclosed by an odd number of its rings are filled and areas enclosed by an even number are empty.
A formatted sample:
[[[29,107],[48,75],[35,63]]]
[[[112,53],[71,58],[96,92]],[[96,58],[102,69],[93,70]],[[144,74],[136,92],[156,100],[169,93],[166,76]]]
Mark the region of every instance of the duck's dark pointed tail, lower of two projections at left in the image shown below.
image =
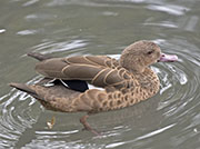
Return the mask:
[[[11,82],[9,83],[10,87],[16,88],[18,90],[24,91],[27,93],[29,93],[30,96],[34,97],[34,98],[39,98],[37,92],[34,90],[32,90],[29,86],[24,85],[24,83],[16,83],[16,82]]]

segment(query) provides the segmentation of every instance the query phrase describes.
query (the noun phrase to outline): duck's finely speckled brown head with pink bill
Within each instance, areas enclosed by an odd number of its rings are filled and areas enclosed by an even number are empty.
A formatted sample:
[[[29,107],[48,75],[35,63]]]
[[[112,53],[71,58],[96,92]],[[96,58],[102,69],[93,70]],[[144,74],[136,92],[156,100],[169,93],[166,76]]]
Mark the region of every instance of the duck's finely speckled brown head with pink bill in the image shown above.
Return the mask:
[[[161,53],[158,44],[152,41],[138,41],[127,47],[120,58],[120,64],[129,71],[141,73],[147,67],[158,61],[172,62],[178,57]]]

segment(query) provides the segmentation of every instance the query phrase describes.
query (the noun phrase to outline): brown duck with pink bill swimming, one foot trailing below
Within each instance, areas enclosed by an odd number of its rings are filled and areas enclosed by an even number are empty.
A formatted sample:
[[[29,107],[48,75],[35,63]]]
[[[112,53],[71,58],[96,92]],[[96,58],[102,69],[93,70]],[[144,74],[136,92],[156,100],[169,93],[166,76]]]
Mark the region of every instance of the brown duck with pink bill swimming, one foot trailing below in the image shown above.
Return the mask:
[[[119,60],[108,56],[56,58],[37,52],[28,56],[39,60],[36,71],[43,79],[36,85],[10,86],[38,99],[48,110],[87,112],[80,122],[96,135],[99,132],[87,122],[90,115],[122,109],[153,97],[160,81],[150,66],[178,60],[176,54],[162,53],[157,43],[148,40],[128,46]],[[88,83],[98,88],[89,89]]]

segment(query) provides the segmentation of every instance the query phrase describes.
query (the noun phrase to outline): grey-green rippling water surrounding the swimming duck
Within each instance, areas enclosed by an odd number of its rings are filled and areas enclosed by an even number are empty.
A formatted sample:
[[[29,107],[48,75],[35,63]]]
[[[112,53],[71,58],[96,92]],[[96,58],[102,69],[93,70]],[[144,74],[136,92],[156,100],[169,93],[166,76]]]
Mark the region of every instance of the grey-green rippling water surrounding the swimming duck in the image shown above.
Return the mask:
[[[198,0],[1,0],[0,13],[0,148],[200,149]],[[44,110],[7,86],[41,78],[27,52],[116,57],[141,39],[179,61],[152,66],[161,80],[156,97],[91,116],[102,137],[81,130],[84,113]],[[52,116],[57,120],[49,130]]]

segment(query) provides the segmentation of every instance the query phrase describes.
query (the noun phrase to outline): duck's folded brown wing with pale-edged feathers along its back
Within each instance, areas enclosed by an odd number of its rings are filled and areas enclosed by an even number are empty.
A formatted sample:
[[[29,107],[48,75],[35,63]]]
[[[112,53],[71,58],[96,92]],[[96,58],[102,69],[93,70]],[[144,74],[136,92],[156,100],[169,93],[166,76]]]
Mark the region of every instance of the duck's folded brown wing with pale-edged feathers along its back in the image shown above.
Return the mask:
[[[40,61],[36,70],[48,77],[63,80],[90,81],[97,87],[120,85],[131,74],[119,61],[106,56],[77,56]]]

